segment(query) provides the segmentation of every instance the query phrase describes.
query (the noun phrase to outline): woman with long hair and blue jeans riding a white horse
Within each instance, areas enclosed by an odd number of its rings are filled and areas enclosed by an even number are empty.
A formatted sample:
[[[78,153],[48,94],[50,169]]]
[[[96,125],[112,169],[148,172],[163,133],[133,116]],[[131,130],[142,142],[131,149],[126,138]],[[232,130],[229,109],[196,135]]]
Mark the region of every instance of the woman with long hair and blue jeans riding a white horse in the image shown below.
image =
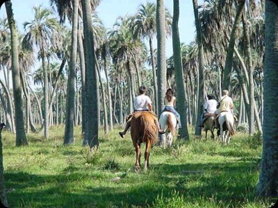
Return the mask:
[[[165,107],[162,112],[170,111],[175,114],[178,119],[178,128],[181,128],[181,116],[179,115],[177,110],[174,109],[174,107],[176,107],[176,97],[174,96],[174,92],[171,88],[167,89],[165,93],[164,105]]]

